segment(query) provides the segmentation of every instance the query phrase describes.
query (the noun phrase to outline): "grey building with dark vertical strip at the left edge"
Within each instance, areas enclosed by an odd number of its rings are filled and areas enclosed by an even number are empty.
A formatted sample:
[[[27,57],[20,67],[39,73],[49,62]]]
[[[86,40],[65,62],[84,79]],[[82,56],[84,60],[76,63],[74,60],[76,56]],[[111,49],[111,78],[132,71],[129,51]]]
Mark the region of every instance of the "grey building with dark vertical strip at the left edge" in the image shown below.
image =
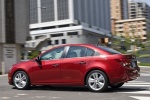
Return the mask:
[[[0,0],[0,73],[20,61],[29,35],[29,0]]]

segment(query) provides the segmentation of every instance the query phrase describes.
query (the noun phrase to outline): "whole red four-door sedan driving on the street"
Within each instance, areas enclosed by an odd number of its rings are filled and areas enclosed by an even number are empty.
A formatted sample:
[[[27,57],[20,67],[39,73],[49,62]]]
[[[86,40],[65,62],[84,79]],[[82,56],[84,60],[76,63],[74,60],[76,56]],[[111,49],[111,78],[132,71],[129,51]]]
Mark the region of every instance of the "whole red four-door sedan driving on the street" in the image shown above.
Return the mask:
[[[87,86],[101,92],[108,86],[119,88],[139,77],[134,55],[90,44],[54,47],[33,60],[13,65],[8,73],[10,85],[27,89],[32,85]]]

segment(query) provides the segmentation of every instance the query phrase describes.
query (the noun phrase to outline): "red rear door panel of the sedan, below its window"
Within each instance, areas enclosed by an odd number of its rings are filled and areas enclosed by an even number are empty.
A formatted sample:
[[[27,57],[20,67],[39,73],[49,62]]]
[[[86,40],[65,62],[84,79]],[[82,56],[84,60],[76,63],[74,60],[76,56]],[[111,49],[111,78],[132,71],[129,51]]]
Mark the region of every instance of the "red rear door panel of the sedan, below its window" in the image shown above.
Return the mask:
[[[63,83],[83,83],[84,73],[92,57],[65,58],[62,61],[61,77]]]

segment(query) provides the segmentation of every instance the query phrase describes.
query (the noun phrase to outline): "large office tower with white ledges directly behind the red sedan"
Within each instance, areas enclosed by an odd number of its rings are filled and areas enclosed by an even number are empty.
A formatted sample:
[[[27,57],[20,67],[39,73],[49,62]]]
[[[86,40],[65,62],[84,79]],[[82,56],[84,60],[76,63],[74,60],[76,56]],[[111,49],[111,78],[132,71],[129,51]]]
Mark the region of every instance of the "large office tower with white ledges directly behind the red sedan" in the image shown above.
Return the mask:
[[[65,43],[97,43],[111,36],[110,0],[30,0],[26,47],[47,50]],[[40,46],[42,45],[42,46]]]

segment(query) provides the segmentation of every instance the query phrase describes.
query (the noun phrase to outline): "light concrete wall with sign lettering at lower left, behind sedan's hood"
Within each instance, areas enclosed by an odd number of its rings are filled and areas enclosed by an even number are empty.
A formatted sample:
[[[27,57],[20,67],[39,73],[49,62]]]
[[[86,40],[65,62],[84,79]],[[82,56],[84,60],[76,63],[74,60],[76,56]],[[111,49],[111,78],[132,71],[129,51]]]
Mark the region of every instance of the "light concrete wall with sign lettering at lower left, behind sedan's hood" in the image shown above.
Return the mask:
[[[20,61],[20,55],[20,45],[0,44],[0,72],[7,73],[13,64]]]

